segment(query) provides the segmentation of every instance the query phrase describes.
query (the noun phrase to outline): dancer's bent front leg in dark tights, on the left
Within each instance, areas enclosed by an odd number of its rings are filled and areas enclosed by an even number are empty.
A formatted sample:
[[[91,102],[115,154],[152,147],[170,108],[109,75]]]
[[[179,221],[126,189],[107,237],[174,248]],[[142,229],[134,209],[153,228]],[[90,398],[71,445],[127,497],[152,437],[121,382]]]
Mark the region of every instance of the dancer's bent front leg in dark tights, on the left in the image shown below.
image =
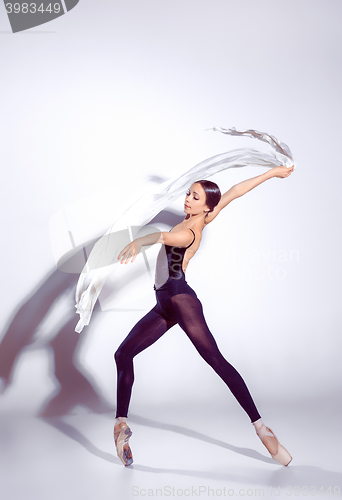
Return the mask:
[[[134,356],[156,342],[175,324],[175,321],[166,320],[155,306],[138,321],[119,346],[114,355],[118,373],[116,417],[127,417],[134,382]]]

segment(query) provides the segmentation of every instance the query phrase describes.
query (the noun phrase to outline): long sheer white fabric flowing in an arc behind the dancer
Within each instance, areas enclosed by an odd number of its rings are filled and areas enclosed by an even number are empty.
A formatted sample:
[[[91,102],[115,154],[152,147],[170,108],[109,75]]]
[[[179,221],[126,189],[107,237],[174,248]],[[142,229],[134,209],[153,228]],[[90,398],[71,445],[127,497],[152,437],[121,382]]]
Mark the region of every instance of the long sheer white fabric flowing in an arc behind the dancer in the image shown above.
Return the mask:
[[[212,129],[232,136],[247,136],[267,142],[273,151],[263,153],[254,149],[233,149],[208,158],[181,176],[159,185],[154,193],[143,195],[131,205],[95,244],[76,287],[76,312],[80,320],[75,331],[80,333],[89,324],[91,314],[103,285],[119,261],[117,256],[129,241],[133,241],[138,229],[148,224],[156,214],[184,194],[193,182],[207,179],[228,168],[248,165],[274,168],[295,166],[289,147],[275,137],[256,130],[238,131],[234,127]]]

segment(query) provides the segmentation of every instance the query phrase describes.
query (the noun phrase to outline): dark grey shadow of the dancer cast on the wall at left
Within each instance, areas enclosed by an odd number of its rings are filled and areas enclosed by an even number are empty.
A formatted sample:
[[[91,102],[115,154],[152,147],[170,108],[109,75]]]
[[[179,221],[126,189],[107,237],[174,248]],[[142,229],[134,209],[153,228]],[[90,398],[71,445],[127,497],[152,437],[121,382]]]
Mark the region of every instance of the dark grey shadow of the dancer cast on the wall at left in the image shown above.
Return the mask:
[[[181,212],[163,210],[151,220],[150,224],[163,223],[173,227],[181,221],[182,216],[184,215]],[[92,242],[92,245],[95,243],[96,240]],[[83,255],[83,247],[78,249],[78,252]],[[75,259],[75,255],[71,258]],[[66,323],[65,321],[60,323],[53,339],[47,339],[43,343],[43,346],[52,352],[54,360],[50,365],[49,375],[52,378],[55,377],[60,384],[56,392],[44,402],[39,410],[38,415],[43,418],[66,415],[78,405],[95,413],[107,413],[114,410],[105,401],[100,389],[96,387],[95,380],[78,359],[79,348],[84,339],[82,334],[75,332],[79,316],[75,313],[72,291],[75,290],[78,277],[79,274],[64,273],[59,269],[52,271],[18,306],[2,335],[0,379],[2,392],[4,392],[12,383],[13,372],[20,354],[29,346],[35,345],[35,333],[38,327],[45,320],[56,300],[68,291],[70,292],[67,316],[71,319],[68,319]],[[97,302],[93,317],[97,316],[99,311],[100,306]],[[88,331],[93,329],[93,325],[94,320],[87,327]],[[42,344],[39,343],[39,348],[41,347]]]

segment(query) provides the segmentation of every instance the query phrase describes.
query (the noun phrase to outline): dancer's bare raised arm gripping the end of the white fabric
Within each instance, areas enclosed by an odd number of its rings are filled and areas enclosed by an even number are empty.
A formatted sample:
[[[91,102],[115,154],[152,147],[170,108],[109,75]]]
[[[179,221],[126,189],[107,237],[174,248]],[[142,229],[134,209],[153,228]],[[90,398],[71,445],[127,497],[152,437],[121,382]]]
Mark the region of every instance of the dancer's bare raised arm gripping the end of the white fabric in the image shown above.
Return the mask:
[[[208,215],[207,223],[211,222],[219,214],[219,212],[231,201],[248,193],[248,191],[255,188],[256,186],[259,186],[259,184],[262,184],[272,177],[279,177],[280,179],[284,179],[285,177],[291,175],[293,170],[294,166],[292,166],[291,168],[285,166],[274,167],[261,175],[257,175],[256,177],[252,177],[251,179],[239,182],[239,184],[235,184],[235,186],[232,186],[226,193],[221,196],[218,205],[214,208],[213,212]]]

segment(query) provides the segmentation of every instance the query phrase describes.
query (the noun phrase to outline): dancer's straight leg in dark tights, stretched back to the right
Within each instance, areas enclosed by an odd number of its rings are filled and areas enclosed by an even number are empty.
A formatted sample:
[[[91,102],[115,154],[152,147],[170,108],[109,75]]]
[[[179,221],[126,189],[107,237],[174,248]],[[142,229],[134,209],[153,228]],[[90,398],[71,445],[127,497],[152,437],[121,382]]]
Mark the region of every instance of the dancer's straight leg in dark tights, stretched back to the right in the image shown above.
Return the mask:
[[[222,356],[203,315],[202,304],[189,294],[175,295],[171,299],[174,317],[185,331],[203,359],[227,384],[251,422],[260,418],[252,396],[237,370]]]

